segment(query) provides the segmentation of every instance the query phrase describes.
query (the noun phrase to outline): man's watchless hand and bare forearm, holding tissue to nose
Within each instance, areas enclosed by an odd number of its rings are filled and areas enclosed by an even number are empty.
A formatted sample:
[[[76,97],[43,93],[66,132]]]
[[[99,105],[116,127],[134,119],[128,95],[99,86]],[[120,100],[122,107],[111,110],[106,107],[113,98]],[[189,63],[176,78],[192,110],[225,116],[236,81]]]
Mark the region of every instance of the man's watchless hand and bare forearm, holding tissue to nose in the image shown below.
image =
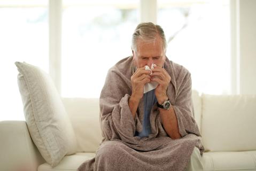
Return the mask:
[[[131,76],[132,92],[129,98],[129,107],[133,118],[138,108],[139,100],[143,97],[144,84],[150,82],[151,71],[145,70],[145,67],[138,68],[136,72]]]

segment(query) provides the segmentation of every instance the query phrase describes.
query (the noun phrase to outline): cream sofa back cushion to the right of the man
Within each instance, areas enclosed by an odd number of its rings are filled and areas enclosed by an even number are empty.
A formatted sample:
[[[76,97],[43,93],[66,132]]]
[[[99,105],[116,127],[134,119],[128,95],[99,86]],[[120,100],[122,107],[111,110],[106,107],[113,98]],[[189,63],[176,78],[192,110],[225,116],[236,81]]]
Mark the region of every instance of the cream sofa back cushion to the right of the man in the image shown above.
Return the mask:
[[[202,95],[201,133],[206,150],[256,150],[256,96]]]

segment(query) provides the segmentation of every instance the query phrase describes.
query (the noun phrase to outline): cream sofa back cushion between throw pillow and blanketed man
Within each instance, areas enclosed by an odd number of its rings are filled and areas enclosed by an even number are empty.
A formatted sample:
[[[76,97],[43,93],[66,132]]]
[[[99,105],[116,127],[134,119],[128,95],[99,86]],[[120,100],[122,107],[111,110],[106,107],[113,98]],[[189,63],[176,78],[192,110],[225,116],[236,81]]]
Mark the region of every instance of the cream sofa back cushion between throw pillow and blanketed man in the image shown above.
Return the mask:
[[[102,141],[98,98],[63,98],[73,125],[77,152],[95,152]]]

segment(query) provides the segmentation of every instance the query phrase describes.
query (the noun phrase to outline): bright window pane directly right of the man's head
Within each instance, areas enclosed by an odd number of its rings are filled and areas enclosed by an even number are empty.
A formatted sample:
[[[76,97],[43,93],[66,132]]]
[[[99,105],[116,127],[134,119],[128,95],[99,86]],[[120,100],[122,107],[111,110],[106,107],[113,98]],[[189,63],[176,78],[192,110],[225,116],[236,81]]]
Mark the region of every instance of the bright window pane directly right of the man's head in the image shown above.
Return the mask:
[[[192,87],[231,93],[229,1],[158,1],[167,57],[189,69]]]

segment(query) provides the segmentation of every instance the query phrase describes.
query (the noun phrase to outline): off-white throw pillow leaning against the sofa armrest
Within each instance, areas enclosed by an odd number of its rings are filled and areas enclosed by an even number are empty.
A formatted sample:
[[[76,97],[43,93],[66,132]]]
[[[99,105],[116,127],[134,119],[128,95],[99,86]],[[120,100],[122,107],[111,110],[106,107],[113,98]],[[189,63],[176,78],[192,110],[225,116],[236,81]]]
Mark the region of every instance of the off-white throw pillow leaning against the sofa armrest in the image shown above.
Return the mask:
[[[71,121],[49,74],[27,63],[15,65],[29,133],[46,162],[56,166],[76,152]]]

